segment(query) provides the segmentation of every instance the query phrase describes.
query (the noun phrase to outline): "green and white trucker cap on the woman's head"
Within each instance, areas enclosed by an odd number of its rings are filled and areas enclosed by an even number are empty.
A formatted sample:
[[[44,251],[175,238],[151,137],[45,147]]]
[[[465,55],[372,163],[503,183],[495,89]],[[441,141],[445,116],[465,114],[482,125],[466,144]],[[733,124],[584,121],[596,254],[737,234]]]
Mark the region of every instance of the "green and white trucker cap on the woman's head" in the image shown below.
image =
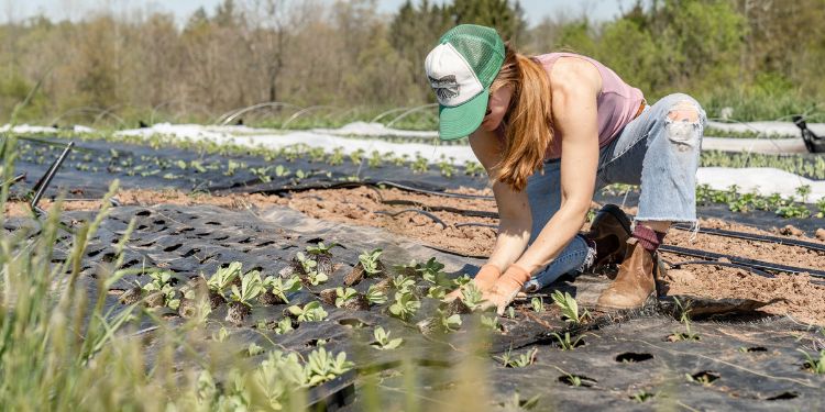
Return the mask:
[[[493,83],[504,64],[504,42],[494,29],[462,24],[444,33],[425,60],[439,102],[439,135],[473,133],[484,120]]]

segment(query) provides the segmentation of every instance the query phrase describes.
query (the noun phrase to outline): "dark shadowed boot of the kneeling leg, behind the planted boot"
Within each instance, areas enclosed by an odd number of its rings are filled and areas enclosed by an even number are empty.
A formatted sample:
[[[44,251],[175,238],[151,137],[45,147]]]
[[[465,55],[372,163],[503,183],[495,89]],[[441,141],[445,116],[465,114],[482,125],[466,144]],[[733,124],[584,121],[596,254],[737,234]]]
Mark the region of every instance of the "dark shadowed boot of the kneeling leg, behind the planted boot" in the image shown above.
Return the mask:
[[[592,268],[617,264],[625,258],[627,240],[630,238],[630,219],[615,204],[605,204],[584,234],[596,244],[596,258]]]

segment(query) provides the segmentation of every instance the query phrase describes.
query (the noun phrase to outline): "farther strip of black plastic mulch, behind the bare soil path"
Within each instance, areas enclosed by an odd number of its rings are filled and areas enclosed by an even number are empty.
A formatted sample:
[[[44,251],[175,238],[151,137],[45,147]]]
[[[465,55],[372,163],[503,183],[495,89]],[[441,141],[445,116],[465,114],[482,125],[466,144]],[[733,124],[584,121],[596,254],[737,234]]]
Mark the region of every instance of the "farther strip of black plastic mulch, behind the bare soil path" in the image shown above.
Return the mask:
[[[65,143],[64,140],[53,140]],[[16,193],[31,189],[45,172],[51,162],[57,157],[59,147],[43,144],[20,142],[18,172],[25,172],[23,182],[13,188]],[[284,193],[289,188],[328,187],[358,179],[360,181],[393,181],[418,189],[444,191],[460,187],[483,189],[487,179],[479,176],[466,176],[463,167],[455,167],[450,177],[442,176],[438,167],[430,165],[427,171],[414,172],[410,165],[396,166],[383,163],[380,167],[367,165],[367,155],[361,164],[354,165],[344,156],[343,164],[331,166],[323,162],[312,162],[308,155],[282,156],[267,160],[261,156],[238,154],[207,154],[189,149],[163,147],[154,149],[147,145],[122,144],[107,141],[81,141],[69,155],[64,167],[55,177],[46,196],[55,196],[65,190],[69,198],[99,198],[103,196],[113,179],[128,189],[178,189],[183,191],[207,191],[219,194],[230,193]],[[229,162],[245,164],[232,174],[228,170]],[[186,164],[180,168],[178,162]],[[204,170],[193,167],[199,163]],[[277,165],[289,170],[288,176],[278,177]],[[263,181],[251,170],[262,169],[268,181]],[[301,170],[307,177],[297,179]],[[638,203],[638,190],[628,196],[610,196],[596,191],[594,200],[605,203],[634,205]],[[762,229],[794,225],[809,234],[823,227],[822,219],[783,219],[772,212],[751,211],[748,213],[732,212],[726,204],[700,204],[697,215],[701,218],[724,219],[732,222]]]

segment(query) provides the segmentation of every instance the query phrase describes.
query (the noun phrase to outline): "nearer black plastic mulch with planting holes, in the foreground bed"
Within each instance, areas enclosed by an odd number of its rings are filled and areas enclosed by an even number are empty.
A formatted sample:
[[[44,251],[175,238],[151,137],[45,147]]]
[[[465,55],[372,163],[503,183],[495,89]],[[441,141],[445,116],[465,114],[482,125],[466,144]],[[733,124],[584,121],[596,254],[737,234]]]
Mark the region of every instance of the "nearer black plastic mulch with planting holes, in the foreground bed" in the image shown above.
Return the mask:
[[[88,213],[70,212],[64,220],[88,216]],[[318,221],[286,208],[228,211],[208,205],[124,207],[113,209],[84,259],[85,280],[90,292],[96,285],[94,277],[112,260],[114,243],[132,218],[136,219],[139,230],[129,242],[124,266],[172,270],[178,286],[201,272],[209,276],[219,266],[235,260],[243,263],[244,271],[254,268],[264,275],[275,275],[307,245],[319,241],[341,244],[342,247],[332,249],[334,263],[341,266],[326,285],[310,290],[305,288],[292,296],[290,303],[298,304],[317,300],[316,293],[322,289],[341,286],[343,275],[356,264],[358,255],[376,247],[385,250],[383,260],[388,265],[411,259],[424,261],[435,256],[453,276],[460,271],[473,274],[480,264],[475,259],[438,253],[377,229]],[[7,222],[7,230],[25,225],[33,227],[31,221],[11,220]],[[59,254],[56,257],[61,257]],[[127,290],[148,280],[147,275],[128,276],[113,288]],[[363,292],[376,281],[378,279],[367,279],[355,289]],[[417,281],[418,285],[426,283],[421,279]],[[562,282],[557,288],[572,292],[583,305],[587,305],[606,283],[605,277],[585,276]],[[823,335],[789,319],[769,318],[758,312],[756,309],[763,302],[698,299],[693,305],[704,308],[704,320],[693,321],[690,327],[700,341],[670,342],[669,336],[688,331],[685,324],[669,315],[672,304],[653,305],[637,313],[604,315],[585,326],[573,327],[561,319],[552,301],[546,297],[549,292],[543,290],[537,294],[543,300],[546,311],[535,312],[529,301],[521,301],[516,305],[514,319],[499,318],[504,332],[493,334],[484,344],[484,352],[488,355],[475,358],[481,363],[482,372],[470,377],[461,372],[461,365],[469,361],[465,358],[469,350],[463,348],[469,342],[476,341],[477,335],[466,329],[447,335],[422,335],[415,323],[432,316],[439,304],[428,298],[422,298],[421,310],[409,323],[388,316],[387,304],[373,307],[370,311],[350,311],[324,304],[330,314],[328,320],[302,323],[290,333],[277,335],[254,327],[261,320],[279,320],[286,305],[256,304],[242,326],[227,324],[227,327],[231,341],[240,347],[254,342],[268,349],[307,353],[323,339],[326,347],[333,353],[346,350],[362,374],[380,374],[385,389],[383,393],[388,397],[387,404],[403,402],[403,394],[410,389],[409,383],[405,383],[402,374],[405,369],[400,366],[409,358],[417,377],[413,383],[415,393],[422,409],[438,408],[437,400],[444,389],[460,385],[482,388],[484,382],[493,399],[502,404],[512,401],[514,391],[520,393],[521,400],[540,396],[536,410],[670,407],[817,410],[823,407],[821,390],[825,378],[803,370],[803,357],[796,350],[818,350]],[[107,304],[121,303],[117,296],[111,296]],[[173,311],[162,312],[175,322]],[[729,315],[735,312],[738,314]],[[222,321],[224,315],[226,305],[222,305],[211,318]],[[462,315],[465,324],[472,322],[471,316]],[[144,326],[148,325],[151,323],[146,322]],[[404,350],[370,347],[373,327],[377,325],[392,331],[393,337],[404,337]],[[563,336],[565,332],[571,333],[573,341],[581,337],[583,345],[562,350],[553,333]],[[151,332],[147,336],[151,337]],[[272,342],[277,346],[272,347]],[[510,348],[514,355],[519,355],[532,347],[538,348],[535,363],[524,368],[504,367],[492,358]],[[348,375],[341,378],[340,385],[324,386],[323,389],[351,390],[352,385],[360,382],[355,375]],[[634,397],[649,399],[639,403]],[[349,403],[344,407],[353,411],[359,410],[363,401],[359,391],[344,398]]]

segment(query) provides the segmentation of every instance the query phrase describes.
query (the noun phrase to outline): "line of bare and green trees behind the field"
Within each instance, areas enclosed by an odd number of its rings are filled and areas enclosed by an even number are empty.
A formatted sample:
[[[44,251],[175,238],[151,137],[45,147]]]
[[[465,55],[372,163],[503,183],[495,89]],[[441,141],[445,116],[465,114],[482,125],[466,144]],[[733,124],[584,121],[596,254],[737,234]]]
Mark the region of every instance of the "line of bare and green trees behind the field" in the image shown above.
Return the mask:
[[[600,59],[649,100],[692,93],[718,115],[825,120],[825,0],[639,0],[610,21],[557,14],[530,26],[512,0],[224,0],[184,23],[101,9],[0,25],[0,120],[209,121],[234,108],[430,103],[424,58],[460,23],[495,26],[526,54]],[[102,113],[102,114],[101,114]]]

